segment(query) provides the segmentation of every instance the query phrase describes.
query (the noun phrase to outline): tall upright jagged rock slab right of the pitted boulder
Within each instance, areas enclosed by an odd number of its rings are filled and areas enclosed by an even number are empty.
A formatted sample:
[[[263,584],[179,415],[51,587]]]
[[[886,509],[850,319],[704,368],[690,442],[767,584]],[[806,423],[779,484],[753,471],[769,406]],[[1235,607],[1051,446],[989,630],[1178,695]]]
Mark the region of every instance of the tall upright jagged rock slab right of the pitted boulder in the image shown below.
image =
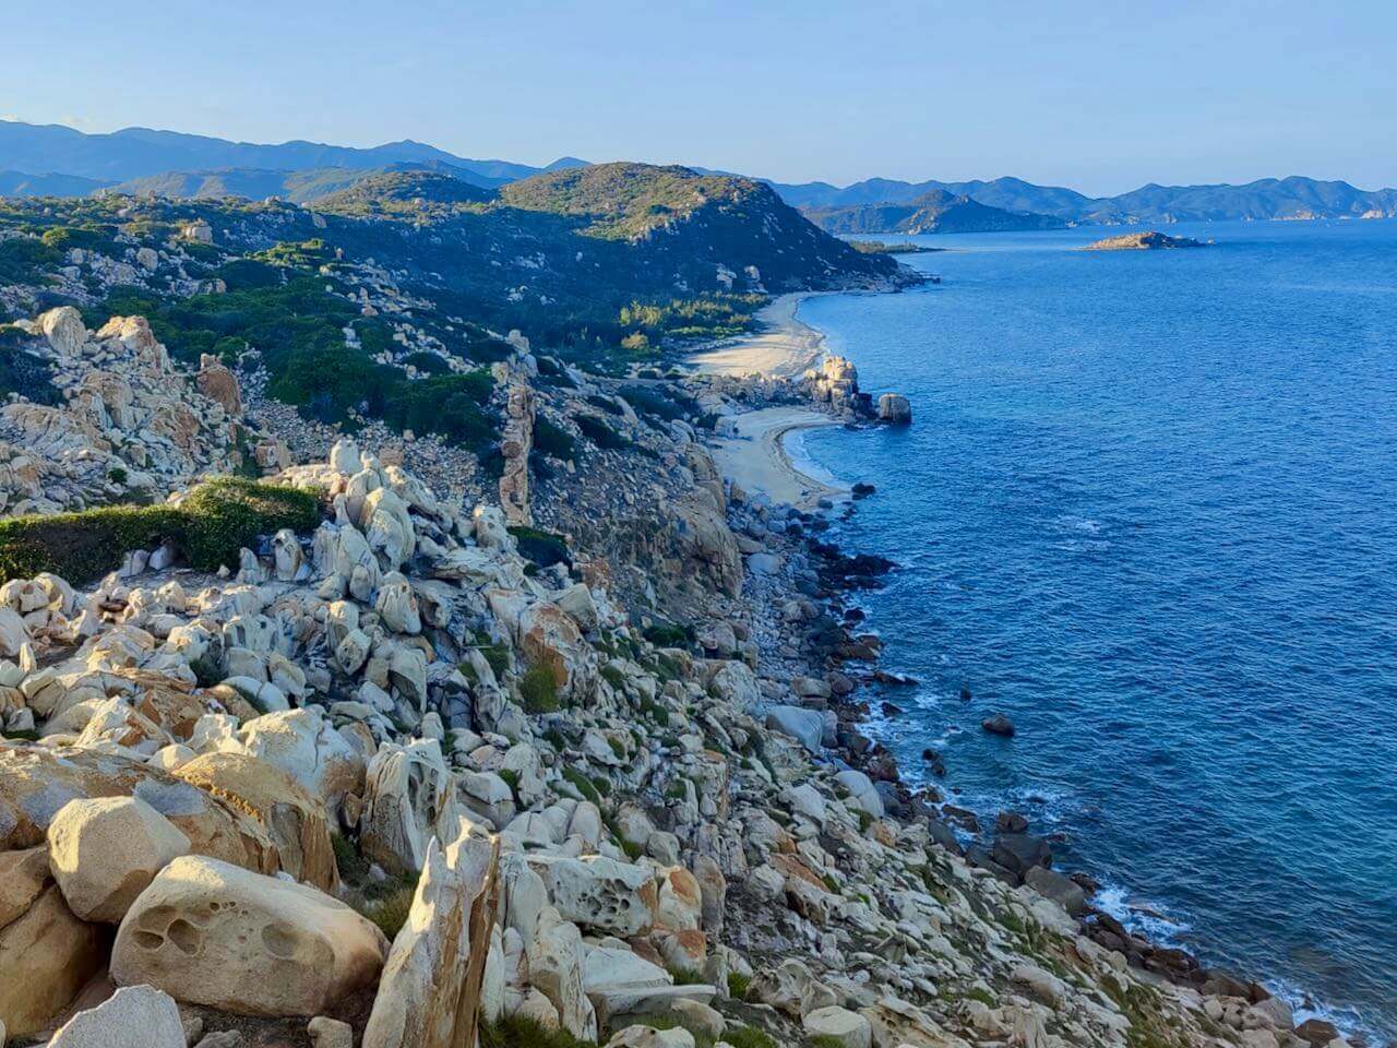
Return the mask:
[[[407,924],[383,966],[363,1048],[475,1044],[495,921],[499,841],[465,830],[433,837]]]

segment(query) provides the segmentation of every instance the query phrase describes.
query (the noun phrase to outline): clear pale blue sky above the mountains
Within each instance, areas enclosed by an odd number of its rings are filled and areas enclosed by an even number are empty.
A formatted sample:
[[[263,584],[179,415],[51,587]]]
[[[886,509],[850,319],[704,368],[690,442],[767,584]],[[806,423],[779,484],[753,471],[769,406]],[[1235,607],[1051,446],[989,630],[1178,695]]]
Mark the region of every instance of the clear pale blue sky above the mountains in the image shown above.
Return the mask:
[[[11,0],[3,25],[0,115],[92,131],[841,184],[1397,184],[1391,0]]]

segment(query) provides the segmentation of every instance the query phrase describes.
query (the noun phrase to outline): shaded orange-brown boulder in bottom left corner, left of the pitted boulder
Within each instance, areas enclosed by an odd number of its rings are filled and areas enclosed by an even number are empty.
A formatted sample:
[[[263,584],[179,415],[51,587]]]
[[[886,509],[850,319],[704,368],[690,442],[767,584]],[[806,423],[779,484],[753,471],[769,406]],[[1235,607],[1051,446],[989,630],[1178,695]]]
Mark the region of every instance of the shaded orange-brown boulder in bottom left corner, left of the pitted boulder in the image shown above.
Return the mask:
[[[0,1026],[43,1030],[106,964],[110,931],[74,917],[57,885],[0,928]]]

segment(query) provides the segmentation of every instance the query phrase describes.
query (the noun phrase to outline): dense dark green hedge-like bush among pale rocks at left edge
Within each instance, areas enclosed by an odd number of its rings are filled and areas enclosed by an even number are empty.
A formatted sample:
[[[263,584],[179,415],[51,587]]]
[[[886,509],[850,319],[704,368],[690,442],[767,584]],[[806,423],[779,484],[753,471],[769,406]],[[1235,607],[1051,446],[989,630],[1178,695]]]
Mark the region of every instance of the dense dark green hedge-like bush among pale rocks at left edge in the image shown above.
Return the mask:
[[[179,506],[110,506],[0,521],[0,580],[53,572],[88,583],[120,566],[131,549],[170,542],[191,567],[214,572],[237,562],[257,535],[310,531],[320,500],[310,492],[225,476],[194,488]]]

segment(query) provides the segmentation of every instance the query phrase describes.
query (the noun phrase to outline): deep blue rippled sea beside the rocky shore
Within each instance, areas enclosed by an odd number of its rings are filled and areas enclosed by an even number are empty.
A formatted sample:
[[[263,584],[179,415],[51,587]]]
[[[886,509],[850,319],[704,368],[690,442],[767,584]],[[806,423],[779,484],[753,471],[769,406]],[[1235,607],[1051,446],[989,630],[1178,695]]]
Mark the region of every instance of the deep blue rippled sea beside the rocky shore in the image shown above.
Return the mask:
[[[1393,1037],[1397,222],[1168,232],[1217,243],[919,238],[942,286],[802,306],[915,412],[805,436],[902,565],[883,731],[1155,935]]]

